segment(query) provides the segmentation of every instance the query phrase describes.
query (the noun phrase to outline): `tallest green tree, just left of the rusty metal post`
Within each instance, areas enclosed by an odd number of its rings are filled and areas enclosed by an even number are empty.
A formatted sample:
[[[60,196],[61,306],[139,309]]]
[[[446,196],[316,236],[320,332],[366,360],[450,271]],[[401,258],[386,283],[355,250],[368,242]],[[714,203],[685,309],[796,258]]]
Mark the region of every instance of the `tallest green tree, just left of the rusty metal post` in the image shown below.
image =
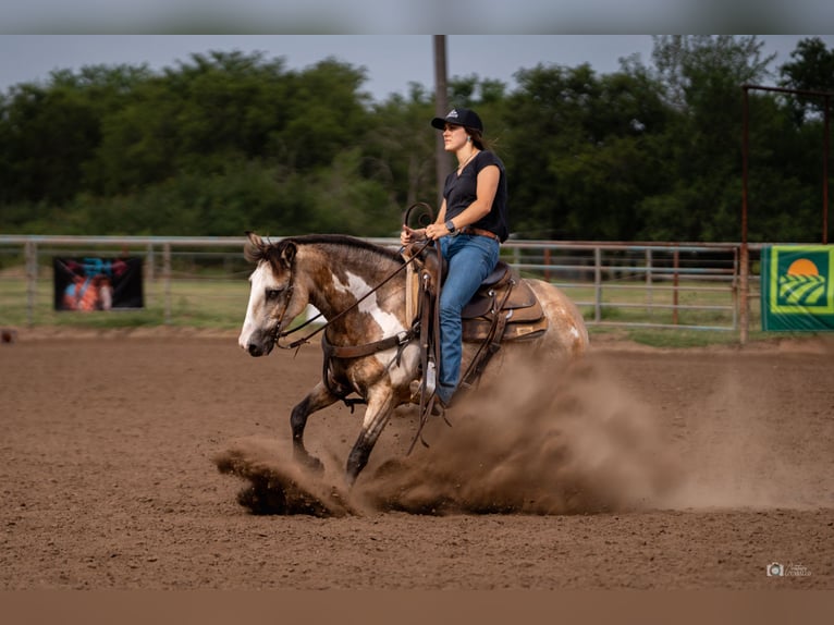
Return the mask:
[[[741,90],[768,76],[753,36],[655,37],[652,58],[671,118],[663,144],[672,184],[641,203],[646,238],[739,237]]]

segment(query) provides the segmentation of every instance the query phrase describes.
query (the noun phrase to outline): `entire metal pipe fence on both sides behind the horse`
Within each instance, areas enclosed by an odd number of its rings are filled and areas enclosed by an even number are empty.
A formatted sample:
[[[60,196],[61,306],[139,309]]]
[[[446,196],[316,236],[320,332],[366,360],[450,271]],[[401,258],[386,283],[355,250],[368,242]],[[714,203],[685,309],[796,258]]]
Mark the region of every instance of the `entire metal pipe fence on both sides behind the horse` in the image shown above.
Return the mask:
[[[219,324],[242,320],[252,268],[243,237],[0,235],[0,324],[77,319],[52,306],[52,257],[140,256],[145,310],[124,323]],[[397,246],[394,238],[370,240]],[[502,257],[528,278],[547,280],[579,306],[588,326],[740,332],[757,311],[758,255],[749,246],[739,280],[738,244],[510,240]],[[748,284],[741,293],[740,284]],[[747,309],[752,315],[741,315]],[[69,317],[68,317],[69,315]],[[76,317],[73,317],[76,316]]]

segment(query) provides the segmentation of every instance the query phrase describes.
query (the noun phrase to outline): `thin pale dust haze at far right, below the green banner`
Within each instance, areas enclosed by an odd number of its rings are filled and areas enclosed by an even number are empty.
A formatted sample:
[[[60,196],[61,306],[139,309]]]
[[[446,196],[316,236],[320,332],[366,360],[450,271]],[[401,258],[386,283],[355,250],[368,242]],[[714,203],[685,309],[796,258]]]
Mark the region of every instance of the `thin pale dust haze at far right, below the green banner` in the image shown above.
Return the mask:
[[[797,409],[790,427],[772,416],[784,389],[751,383],[735,368],[719,367],[718,382],[699,397],[679,433],[686,467],[670,508],[807,508],[831,490],[827,434]],[[789,385],[789,384],[787,384]],[[834,406],[834,404],[832,404]],[[814,440],[818,438],[818,440]],[[820,462],[827,457],[827,462]]]

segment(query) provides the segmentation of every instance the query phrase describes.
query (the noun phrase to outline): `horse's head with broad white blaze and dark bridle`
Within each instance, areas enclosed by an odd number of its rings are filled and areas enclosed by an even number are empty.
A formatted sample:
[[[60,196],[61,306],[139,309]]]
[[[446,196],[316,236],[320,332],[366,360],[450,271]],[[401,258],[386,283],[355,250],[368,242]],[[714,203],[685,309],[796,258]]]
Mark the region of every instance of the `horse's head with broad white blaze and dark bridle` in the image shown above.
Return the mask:
[[[307,302],[293,297],[295,243],[267,243],[254,232],[247,236],[244,256],[256,267],[249,277],[249,304],[237,343],[250,355],[263,356],[272,351],[281,330],[304,311]]]

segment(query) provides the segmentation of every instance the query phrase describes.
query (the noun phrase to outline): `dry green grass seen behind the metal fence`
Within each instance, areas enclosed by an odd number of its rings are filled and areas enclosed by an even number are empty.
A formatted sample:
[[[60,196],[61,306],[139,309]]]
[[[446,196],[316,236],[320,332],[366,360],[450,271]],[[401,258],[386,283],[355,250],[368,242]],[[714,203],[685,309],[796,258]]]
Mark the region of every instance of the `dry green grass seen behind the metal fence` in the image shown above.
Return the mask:
[[[709,284],[688,284],[699,289]],[[739,342],[738,330],[733,329],[732,310],[692,309],[678,310],[679,328],[628,327],[626,323],[673,323],[673,311],[667,308],[650,308],[649,304],[671,304],[672,291],[667,289],[616,289],[603,285],[601,320],[611,324],[594,324],[592,285],[564,285],[565,293],[579,305],[589,322],[593,336],[625,339],[652,347],[686,348],[708,345],[734,345]],[[56,311],[52,306],[52,282],[40,279],[35,293],[32,326],[81,329],[112,329],[140,327],[182,327],[197,329],[240,329],[246,311],[249,284],[243,279],[207,277],[176,279],[165,292],[161,280],[145,282],[145,308],[111,310],[102,312]],[[26,282],[20,277],[0,278],[0,327],[26,327],[29,324]],[[690,306],[732,306],[733,295],[727,286],[721,291],[682,289],[678,303]],[[625,305],[625,306],[623,306]],[[766,341],[773,333],[758,330],[758,299],[750,303],[749,341]],[[617,324],[622,323],[622,324]],[[689,329],[684,326],[716,326],[726,330]],[[804,336],[808,333],[780,333],[780,338]]]

